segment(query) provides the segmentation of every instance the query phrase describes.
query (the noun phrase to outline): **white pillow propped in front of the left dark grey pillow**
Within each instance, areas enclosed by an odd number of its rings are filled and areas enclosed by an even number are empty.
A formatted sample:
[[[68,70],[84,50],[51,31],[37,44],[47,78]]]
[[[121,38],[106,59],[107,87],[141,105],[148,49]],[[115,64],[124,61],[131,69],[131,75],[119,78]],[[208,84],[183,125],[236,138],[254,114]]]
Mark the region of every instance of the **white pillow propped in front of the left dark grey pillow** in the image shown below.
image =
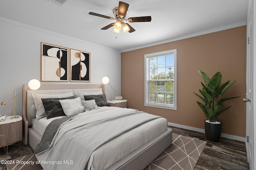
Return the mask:
[[[84,112],[80,98],[59,100],[65,115],[70,116]]]

